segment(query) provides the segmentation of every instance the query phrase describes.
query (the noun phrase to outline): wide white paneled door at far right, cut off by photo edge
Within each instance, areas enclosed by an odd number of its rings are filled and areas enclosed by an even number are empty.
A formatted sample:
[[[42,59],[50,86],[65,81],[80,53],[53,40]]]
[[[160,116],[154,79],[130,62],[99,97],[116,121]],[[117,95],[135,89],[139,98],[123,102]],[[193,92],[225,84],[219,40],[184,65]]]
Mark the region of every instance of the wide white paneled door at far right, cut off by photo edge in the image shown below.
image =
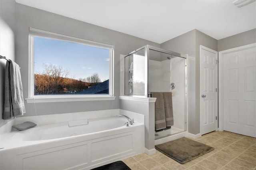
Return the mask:
[[[223,130],[256,137],[256,47],[222,55]]]

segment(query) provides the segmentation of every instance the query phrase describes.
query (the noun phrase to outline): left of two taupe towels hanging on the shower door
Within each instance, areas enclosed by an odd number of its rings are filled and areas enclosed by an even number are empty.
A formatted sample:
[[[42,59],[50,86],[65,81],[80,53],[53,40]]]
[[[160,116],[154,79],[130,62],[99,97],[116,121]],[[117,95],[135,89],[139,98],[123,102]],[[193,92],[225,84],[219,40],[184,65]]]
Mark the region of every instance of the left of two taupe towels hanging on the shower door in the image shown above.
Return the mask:
[[[152,97],[156,97],[155,102],[155,130],[166,128],[164,113],[164,97],[162,92],[152,92]]]

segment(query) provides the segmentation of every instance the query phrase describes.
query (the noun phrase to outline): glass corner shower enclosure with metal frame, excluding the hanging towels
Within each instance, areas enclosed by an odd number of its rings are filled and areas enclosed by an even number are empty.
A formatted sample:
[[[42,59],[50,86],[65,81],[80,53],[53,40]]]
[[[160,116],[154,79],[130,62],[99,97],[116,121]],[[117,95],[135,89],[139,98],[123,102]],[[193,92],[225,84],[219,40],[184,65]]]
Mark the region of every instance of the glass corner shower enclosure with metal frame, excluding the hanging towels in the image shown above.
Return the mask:
[[[124,94],[152,97],[172,92],[174,125],[155,133],[155,139],[186,131],[187,55],[145,45],[125,57]]]

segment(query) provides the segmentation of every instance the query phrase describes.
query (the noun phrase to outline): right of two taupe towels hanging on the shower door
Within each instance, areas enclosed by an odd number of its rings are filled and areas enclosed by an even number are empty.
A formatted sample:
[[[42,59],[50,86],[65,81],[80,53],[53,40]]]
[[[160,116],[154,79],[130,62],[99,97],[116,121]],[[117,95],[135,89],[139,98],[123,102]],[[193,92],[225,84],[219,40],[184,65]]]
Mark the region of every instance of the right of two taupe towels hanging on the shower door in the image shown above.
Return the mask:
[[[166,127],[173,126],[172,92],[163,92]]]

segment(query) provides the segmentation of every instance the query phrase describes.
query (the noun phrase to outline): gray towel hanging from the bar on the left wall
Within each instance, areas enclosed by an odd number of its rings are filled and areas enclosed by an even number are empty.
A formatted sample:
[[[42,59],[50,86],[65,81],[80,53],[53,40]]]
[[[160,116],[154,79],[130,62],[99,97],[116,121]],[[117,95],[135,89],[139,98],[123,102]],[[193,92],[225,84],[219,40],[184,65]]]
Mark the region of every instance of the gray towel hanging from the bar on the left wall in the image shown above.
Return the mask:
[[[5,70],[5,97],[3,119],[23,115],[26,113],[22,83],[20,76],[20,67],[14,61],[6,61]]]

